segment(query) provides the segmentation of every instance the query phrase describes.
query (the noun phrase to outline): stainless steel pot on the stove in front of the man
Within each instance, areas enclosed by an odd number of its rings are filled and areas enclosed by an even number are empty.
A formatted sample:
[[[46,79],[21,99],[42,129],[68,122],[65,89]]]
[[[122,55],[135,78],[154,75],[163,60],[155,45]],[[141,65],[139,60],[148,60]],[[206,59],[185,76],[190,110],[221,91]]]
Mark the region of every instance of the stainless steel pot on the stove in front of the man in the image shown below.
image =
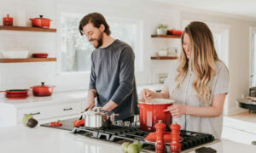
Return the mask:
[[[101,128],[113,125],[114,116],[118,116],[113,111],[84,111],[84,127]]]

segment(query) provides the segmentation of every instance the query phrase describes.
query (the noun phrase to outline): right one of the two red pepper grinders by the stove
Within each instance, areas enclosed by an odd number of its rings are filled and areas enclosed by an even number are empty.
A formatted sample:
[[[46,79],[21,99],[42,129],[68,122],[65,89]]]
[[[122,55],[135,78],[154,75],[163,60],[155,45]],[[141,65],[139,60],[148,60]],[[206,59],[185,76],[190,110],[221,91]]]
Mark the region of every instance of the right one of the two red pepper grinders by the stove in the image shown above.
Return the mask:
[[[178,153],[181,150],[181,145],[179,143],[179,133],[180,133],[180,125],[175,122],[170,126],[171,128],[171,135],[172,135],[172,142],[170,145],[170,149],[172,153]]]

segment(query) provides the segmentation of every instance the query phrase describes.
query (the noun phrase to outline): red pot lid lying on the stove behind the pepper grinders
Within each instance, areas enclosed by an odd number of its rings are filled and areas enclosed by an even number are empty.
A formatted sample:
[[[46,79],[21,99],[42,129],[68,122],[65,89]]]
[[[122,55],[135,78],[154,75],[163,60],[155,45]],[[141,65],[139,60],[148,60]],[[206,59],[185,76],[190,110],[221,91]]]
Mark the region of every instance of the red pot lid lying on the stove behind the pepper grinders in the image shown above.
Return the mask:
[[[145,141],[148,142],[156,142],[156,133],[148,133],[148,135],[144,138]],[[183,138],[179,137],[179,142],[183,141]],[[164,133],[164,143],[170,144],[172,142],[172,135],[171,132],[165,132]]]

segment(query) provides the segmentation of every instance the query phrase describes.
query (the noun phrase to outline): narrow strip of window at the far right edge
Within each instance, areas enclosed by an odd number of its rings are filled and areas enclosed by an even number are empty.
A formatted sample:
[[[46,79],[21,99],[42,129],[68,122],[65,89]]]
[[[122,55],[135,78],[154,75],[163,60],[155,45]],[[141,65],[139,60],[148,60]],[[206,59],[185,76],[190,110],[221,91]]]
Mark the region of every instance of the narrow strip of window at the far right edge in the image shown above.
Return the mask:
[[[251,87],[256,87],[256,28],[251,28]]]

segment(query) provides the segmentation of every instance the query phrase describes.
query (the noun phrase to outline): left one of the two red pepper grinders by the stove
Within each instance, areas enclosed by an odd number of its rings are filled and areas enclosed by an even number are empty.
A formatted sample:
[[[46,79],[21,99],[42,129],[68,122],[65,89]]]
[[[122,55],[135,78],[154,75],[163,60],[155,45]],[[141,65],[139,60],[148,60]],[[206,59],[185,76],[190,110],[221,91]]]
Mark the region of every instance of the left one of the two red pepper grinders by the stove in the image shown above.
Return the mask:
[[[166,124],[164,124],[161,120],[155,124],[155,134],[156,134],[156,142],[155,142],[155,153],[165,153],[166,145],[164,142],[164,133],[166,129]]]

